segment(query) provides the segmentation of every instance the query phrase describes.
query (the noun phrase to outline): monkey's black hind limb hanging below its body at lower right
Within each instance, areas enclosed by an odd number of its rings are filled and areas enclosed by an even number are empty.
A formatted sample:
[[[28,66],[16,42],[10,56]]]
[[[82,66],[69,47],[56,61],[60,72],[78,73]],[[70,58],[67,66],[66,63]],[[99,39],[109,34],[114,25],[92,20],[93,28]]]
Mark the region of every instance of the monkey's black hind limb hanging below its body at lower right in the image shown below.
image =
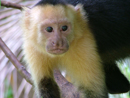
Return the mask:
[[[116,64],[107,63],[104,65],[108,92],[113,94],[129,91],[129,82],[126,77],[120,72]]]

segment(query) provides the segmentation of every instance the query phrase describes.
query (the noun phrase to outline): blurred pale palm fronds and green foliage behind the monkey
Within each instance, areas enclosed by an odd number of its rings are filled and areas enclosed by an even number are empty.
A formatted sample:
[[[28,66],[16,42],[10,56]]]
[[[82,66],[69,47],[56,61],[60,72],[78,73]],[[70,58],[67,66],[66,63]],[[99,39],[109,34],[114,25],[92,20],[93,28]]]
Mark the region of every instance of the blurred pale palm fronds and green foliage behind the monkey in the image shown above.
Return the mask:
[[[38,0],[6,0],[32,7]],[[0,9],[0,37],[10,50],[22,61],[21,11],[13,8]],[[117,62],[121,71],[130,80],[130,59]],[[0,50],[0,98],[36,98],[32,86],[23,79],[12,63]],[[110,98],[130,98],[129,93],[111,95]]]

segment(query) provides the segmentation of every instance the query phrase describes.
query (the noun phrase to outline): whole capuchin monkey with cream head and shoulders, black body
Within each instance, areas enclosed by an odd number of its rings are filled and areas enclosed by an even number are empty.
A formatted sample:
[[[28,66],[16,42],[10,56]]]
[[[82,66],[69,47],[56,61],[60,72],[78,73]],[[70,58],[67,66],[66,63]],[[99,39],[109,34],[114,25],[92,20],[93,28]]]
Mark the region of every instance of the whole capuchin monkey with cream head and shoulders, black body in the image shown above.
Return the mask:
[[[130,0],[41,0],[23,11],[24,59],[38,98],[61,98],[65,70],[83,98],[129,91],[116,61],[130,54]]]

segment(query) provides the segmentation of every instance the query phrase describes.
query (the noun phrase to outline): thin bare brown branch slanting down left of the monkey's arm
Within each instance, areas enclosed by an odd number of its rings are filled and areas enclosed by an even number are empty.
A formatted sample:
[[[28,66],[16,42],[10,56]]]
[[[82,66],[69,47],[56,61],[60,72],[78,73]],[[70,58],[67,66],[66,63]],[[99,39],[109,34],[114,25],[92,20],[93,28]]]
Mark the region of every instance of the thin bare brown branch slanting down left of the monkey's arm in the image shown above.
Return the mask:
[[[3,50],[7,58],[13,63],[18,72],[26,79],[27,82],[33,84],[31,81],[31,75],[26,71],[25,67],[18,61],[16,56],[6,46],[3,40],[0,38],[0,48]]]

